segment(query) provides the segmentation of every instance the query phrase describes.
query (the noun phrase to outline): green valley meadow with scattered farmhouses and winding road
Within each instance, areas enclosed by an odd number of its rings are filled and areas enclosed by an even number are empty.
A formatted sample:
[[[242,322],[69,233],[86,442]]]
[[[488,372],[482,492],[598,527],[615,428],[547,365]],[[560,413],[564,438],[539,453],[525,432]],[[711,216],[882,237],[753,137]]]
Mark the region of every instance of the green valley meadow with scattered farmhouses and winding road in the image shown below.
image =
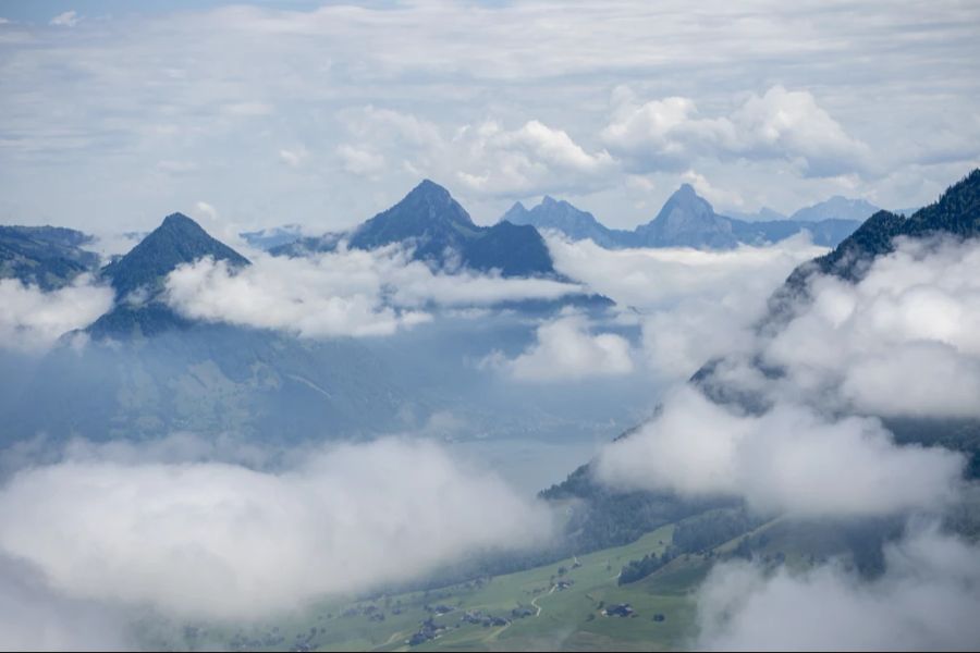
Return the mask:
[[[691,592],[708,564],[678,558],[650,577],[617,584],[627,562],[663,552],[673,525],[625,546],[526,571],[373,601],[330,601],[274,623],[205,625],[148,634],[164,649],[490,651],[665,650],[695,634]],[[628,616],[608,608],[628,604]],[[621,612],[627,612],[621,607]],[[425,636],[424,624],[429,627]],[[177,634],[179,630],[179,634]],[[409,641],[416,637],[416,641]]]

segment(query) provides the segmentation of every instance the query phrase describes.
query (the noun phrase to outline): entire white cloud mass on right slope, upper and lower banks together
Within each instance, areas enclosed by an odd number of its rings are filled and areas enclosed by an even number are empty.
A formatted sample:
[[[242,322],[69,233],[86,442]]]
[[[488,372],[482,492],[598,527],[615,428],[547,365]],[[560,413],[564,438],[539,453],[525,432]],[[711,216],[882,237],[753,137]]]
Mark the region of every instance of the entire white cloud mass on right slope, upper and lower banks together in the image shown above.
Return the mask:
[[[785,325],[713,324],[727,346],[702,362],[724,357],[708,384],[732,403],[690,385],[667,394],[657,418],[604,449],[599,478],[807,516],[941,509],[965,459],[898,446],[867,416],[980,415],[978,279],[975,242],[899,242],[858,284],[817,275]]]

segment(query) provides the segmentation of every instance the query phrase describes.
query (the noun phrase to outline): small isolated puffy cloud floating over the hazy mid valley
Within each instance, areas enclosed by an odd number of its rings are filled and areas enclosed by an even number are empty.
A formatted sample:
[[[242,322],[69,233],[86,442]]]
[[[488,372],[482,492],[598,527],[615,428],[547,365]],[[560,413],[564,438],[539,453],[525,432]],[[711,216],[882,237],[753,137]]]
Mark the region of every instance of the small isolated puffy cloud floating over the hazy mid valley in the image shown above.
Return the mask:
[[[629,342],[614,333],[590,333],[583,316],[546,322],[526,352],[513,360],[497,354],[488,362],[518,381],[531,382],[620,377],[634,369]]]

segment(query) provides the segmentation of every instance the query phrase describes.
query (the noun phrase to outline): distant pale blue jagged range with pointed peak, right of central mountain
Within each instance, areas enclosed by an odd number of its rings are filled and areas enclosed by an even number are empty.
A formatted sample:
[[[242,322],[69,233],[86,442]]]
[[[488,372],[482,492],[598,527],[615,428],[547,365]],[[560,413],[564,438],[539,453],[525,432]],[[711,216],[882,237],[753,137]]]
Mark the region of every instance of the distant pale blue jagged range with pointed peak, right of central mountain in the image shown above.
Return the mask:
[[[769,215],[777,220],[737,220],[721,215],[711,204],[699,196],[690,184],[684,184],[663,205],[657,217],[633,231],[611,230],[595,215],[575,208],[567,201],[546,197],[541,204],[527,209],[515,204],[501,220],[517,224],[532,225],[539,230],[556,230],[573,241],[589,238],[607,248],[623,247],[695,247],[698,249],[731,249],[740,244],[765,245],[783,241],[800,233],[810,232],[813,243],[832,247],[846,238],[860,224],[853,215],[861,211],[856,208],[862,200],[832,198],[821,205],[797,211],[801,219],[785,219],[775,211]],[[840,198],[844,199],[844,198]],[[834,207],[842,215],[834,214]],[[825,214],[824,218],[817,218]]]

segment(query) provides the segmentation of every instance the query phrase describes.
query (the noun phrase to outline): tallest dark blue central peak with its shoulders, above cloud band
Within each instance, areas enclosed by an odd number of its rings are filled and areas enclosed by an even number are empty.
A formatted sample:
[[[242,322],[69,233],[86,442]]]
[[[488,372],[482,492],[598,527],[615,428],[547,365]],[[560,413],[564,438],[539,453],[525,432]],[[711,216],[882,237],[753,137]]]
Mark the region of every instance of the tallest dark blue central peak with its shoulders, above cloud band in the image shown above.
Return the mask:
[[[343,237],[353,249],[411,245],[416,260],[440,268],[460,260],[480,271],[500,270],[504,276],[554,275],[551,255],[537,230],[509,222],[477,225],[449,190],[429,180],[348,234],[301,238],[270,252],[304,256],[332,251]]]

